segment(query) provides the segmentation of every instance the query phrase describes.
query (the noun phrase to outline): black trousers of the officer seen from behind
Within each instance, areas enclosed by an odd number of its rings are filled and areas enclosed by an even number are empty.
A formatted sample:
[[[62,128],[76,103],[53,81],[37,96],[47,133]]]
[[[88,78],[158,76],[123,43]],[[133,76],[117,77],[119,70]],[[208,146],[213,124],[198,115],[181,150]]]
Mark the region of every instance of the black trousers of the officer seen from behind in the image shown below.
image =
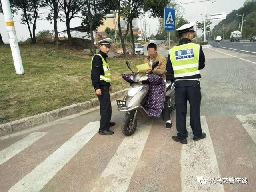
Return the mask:
[[[194,135],[202,134],[200,120],[200,86],[175,87],[176,128],[180,136],[188,136],[186,129],[187,101],[190,104],[190,125]]]

